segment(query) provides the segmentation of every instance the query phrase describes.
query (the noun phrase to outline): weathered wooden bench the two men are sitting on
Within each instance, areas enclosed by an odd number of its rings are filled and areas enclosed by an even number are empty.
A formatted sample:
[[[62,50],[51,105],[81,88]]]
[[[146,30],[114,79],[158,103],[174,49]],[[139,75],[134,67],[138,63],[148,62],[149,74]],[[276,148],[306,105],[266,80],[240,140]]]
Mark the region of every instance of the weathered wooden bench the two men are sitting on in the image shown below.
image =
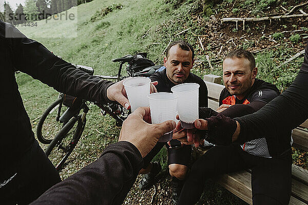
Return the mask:
[[[208,107],[216,110],[219,106],[220,92],[224,86],[213,82],[220,82],[221,77],[210,75],[205,76],[204,79],[208,90]],[[308,120],[293,130],[293,147],[308,151],[307,128]],[[251,172],[249,170],[224,174],[215,180],[219,185],[237,195],[248,204],[253,204]],[[289,204],[308,204],[308,171],[296,165],[292,165],[292,194]]]

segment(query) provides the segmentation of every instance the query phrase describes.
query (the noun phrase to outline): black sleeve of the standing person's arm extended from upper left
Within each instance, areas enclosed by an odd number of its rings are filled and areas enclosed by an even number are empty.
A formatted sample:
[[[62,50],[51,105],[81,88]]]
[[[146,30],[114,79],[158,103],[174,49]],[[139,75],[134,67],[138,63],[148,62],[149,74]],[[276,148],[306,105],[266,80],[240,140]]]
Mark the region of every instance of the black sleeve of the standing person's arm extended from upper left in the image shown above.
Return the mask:
[[[76,69],[55,56],[41,43],[27,38],[15,27],[3,22],[0,26],[0,35],[10,37],[5,39],[13,53],[10,57],[15,69],[31,75],[59,92],[102,103],[108,99],[107,88],[112,82]]]

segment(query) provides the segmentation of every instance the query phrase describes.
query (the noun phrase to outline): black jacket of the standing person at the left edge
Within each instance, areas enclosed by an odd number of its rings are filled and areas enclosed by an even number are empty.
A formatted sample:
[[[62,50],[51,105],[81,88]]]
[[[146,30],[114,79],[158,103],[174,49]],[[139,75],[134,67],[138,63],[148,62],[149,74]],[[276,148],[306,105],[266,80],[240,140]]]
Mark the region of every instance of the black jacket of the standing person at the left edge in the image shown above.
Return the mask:
[[[7,35],[6,35],[7,34]],[[6,37],[10,36],[10,37]],[[104,103],[110,81],[91,76],[58,58],[42,44],[0,20],[0,182],[15,173],[34,142],[30,119],[15,79],[15,70],[41,80],[59,92]],[[31,89],[31,88],[29,88]]]

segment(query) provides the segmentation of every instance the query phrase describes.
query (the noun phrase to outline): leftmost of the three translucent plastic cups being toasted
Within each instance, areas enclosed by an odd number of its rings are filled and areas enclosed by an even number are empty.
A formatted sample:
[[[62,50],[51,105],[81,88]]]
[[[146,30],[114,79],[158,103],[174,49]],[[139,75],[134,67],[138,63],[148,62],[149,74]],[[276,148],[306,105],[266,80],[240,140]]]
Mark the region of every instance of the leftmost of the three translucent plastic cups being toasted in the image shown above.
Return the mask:
[[[131,112],[139,107],[148,107],[150,94],[150,78],[130,77],[123,81]]]

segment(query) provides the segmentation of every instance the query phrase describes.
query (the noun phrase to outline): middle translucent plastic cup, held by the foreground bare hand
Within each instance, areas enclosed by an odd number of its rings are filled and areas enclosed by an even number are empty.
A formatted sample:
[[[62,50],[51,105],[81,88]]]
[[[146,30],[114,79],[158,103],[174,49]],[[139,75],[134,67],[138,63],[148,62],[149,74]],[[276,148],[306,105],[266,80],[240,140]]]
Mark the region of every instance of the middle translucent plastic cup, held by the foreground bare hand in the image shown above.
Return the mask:
[[[175,120],[178,95],[174,93],[152,93],[148,95],[152,124],[159,124],[167,120]],[[173,131],[160,137],[159,142],[172,139]]]

